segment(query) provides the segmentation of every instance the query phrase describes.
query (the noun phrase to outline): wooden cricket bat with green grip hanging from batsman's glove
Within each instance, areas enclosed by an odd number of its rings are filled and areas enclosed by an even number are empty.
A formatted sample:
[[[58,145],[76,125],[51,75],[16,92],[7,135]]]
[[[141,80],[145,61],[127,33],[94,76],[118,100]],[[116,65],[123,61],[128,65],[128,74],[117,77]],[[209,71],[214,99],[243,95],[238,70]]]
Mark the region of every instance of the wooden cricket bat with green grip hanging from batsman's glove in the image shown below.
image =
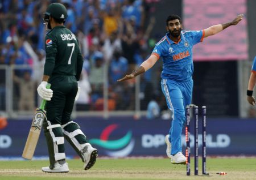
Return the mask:
[[[48,83],[46,85],[46,88],[49,89],[50,87],[51,84]],[[38,139],[40,136],[41,128],[43,126],[43,121],[46,117],[46,111],[44,110],[45,105],[46,100],[42,100],[40,107],[36,108],[36,113],[33,118],[30,132],[27,137],[27,142],[22,153],[22,157],[28,160],[32,159],[35,152],[36,144],[38,144]]]

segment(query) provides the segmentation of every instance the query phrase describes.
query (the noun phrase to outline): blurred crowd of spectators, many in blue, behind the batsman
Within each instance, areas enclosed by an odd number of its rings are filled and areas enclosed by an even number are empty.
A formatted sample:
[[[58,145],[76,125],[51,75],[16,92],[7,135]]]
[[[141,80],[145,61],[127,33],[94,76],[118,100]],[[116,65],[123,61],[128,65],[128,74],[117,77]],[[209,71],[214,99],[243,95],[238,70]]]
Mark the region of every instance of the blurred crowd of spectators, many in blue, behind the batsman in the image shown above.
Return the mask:
[[[41,82],[43,74],[44,37],[47,33],[43,14],[49,3],[60,2],[68,10],[65,26],[79,39],[84,57],[79,82],[82,93],[77,101],[77,109],[102,110],[102,87],[106,80],[104,73],[107,71],[109,110],[134,110],[134,81],[117,83],[117,79],[140,65],[154,48],[159,37],[150,34],[154,26],[154,18],[150,14],[154,11],[154,3],[159,1],[1,1],[0,64],[31,67],[31,70],[14,72],[14,93],[18,95],[16,100],[19,100],[17,108],[29,110],[36,106],[36,96],[31,97],[31,93],[36,93],[36,86]],[[3,75],[4,72],[1,72]],[[146,109],[155,93],[150,78],[148,72],[141,79],[142,109]],[[21,97],[25,98],[22,100]]]

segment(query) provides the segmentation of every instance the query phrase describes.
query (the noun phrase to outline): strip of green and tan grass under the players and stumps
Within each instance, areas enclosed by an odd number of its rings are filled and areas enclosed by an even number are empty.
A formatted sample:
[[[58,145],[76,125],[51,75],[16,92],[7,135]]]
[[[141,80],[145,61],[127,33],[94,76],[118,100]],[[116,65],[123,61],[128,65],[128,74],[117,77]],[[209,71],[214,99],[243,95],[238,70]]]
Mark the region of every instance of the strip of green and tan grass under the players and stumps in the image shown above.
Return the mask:
[[[201,163],[201,161],[200,161]],[[48,161],[0,161],[0,179],[256,179],[256,158],[208,158],[209,176],[187,177],[185,165],[173,165],[168,158],[98,158],[92,169],[82,170],[80,160],[68,160],[69,173],[43,173]],[[227,175],[218,175],[226,172]]]

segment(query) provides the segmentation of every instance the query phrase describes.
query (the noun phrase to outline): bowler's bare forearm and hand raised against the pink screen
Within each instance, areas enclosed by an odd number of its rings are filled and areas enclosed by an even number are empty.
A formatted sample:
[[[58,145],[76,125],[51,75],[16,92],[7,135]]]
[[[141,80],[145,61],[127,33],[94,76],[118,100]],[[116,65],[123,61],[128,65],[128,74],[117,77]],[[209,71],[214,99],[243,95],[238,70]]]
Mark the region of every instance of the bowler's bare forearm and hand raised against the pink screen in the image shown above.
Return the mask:
[[[243,19],[243,14],[238,15],[232,22],[225,24],[213,25],[207,29],[204,29],[204,38],[223,31],[224,29],[230,27],[230,25],[237,25]]]

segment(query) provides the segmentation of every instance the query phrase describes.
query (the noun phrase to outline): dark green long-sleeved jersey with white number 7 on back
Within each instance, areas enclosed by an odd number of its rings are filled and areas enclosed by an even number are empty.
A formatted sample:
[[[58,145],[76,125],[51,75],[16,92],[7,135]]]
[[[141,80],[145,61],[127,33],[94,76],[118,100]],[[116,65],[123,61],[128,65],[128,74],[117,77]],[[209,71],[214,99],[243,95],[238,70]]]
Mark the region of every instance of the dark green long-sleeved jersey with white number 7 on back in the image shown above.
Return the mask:
[[[76,36],[64,25],[54,27],[46,35],[44,75],[74,75],[82,71],[82,55]]]

